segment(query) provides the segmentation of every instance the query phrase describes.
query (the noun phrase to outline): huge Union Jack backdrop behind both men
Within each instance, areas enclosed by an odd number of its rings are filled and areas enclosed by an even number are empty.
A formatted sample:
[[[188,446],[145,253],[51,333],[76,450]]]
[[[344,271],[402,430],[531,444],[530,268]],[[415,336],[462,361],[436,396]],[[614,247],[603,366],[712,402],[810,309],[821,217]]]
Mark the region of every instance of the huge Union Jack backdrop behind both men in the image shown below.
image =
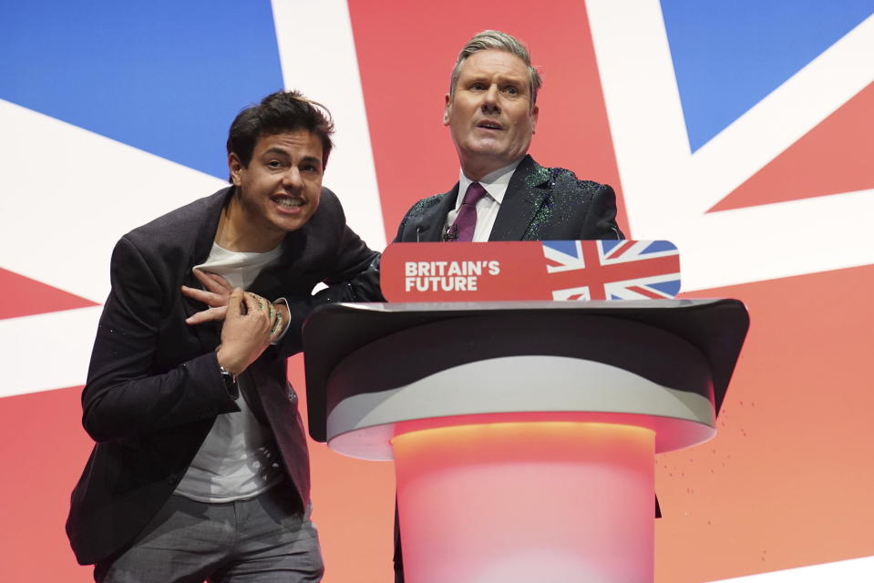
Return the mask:
[[[751,314],[717,437],[657,458],[657,580],[874,579],[874,0],[0,6],[0,580],[91,580],[63,526],[118,237],[226,184],[231,119],[290,87],[333,112],[324,183],[382,249],[458,178],[443,98],[486,28],[544,77],[534,158],[673,241],[681,297]],[[325,580],[390,580],[391,465],[312,458]]]

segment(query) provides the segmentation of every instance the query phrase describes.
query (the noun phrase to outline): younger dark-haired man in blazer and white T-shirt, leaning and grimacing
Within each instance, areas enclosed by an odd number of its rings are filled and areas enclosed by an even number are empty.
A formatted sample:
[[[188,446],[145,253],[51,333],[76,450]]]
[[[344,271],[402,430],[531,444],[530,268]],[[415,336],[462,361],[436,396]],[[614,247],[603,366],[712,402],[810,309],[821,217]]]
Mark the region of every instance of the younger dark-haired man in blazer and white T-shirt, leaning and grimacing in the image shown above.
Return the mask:
[[[82,394],[97,444],[67,519],[98,581],[322,577],[285,358],[302,350],[314,304],[375,293],[359,276],[376,253],[322,188],[333,124],[316,106],[278,92],[242,111],[228,139],[232,186],[113,251]],[[230,292],[209,271],[244,283]],[[227,307],[204,316],[204,302]]]

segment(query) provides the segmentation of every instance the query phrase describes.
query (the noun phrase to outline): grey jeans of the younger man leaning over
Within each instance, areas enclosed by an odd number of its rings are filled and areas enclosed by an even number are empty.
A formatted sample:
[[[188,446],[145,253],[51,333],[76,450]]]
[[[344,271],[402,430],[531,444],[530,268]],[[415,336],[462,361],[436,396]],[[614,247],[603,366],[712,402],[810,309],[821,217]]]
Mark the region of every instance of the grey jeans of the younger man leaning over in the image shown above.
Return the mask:
[[[274,487],[205,504],[170,496],[133,542],[94,566],[98,583],[311,583],[324,565],[318,533]]]

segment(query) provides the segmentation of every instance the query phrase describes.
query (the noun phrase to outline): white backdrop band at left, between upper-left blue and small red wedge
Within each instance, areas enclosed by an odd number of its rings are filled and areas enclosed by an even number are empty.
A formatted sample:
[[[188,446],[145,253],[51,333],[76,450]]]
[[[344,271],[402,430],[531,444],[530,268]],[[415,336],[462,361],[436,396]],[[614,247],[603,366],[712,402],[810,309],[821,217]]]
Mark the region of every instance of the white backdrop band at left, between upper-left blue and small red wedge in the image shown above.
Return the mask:
[[[93,302],[121,235],[227,184],[3,100],[0,127],[0,267]]]

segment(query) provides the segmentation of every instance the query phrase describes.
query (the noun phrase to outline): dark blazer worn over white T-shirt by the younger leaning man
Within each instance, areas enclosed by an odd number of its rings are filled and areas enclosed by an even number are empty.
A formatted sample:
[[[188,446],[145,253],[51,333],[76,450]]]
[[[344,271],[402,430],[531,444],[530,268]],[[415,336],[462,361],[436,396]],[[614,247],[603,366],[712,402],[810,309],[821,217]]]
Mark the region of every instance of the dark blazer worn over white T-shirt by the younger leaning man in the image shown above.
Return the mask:
[[[128,544],[179,484],[216,415],[240,410],[216,361],[221,324],[186,324],[204,306],[180,292],[183,284],[200,287],[191,268],[209,256],[232,193],[222,189],[173,210],[129,232],[113,251],[112,289],[82,393],[83,424],[97,444],[67,518],[83,565]],[[370,283],[354,279],[375,257],[346,227],[334,193],[323,189],[312,219],[288,234],[281,259],[250,289],[286,297],[292,312],[283,342],[243,374],[258,387],[246,397],[272,429],[289,478],[284,486],[302,505],[309,500],[309,459],[285,357],[302,350],[301,322],[314,304],[373,294],[360,288]],[[334,285],[311,296],[320,281]]]

